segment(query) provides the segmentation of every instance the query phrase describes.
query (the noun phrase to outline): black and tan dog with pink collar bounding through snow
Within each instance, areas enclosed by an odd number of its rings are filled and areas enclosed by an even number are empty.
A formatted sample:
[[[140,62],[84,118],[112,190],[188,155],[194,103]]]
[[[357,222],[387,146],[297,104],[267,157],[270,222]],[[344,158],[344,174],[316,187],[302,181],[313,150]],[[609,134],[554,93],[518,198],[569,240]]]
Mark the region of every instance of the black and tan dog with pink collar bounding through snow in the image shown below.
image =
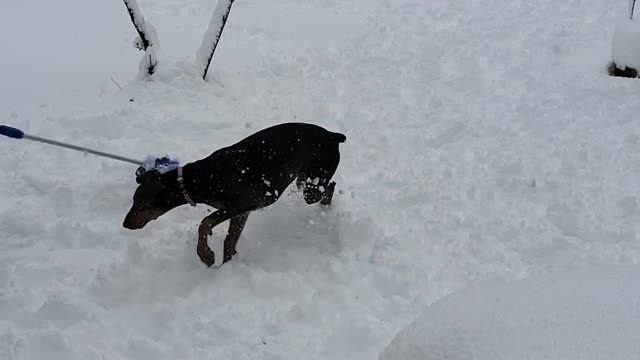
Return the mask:
[[[169,210],[190,204],[216,209],[198,227],[197,251],[210,267],[215,253],[207,241],[215,226],[229,220],[223,263],[237,254],[236,245],[249,213],[275,203],[295,180],[307,204],[329,206],[336,186],[331,178],[340,162],[341,133],[307,123],[284,123],[260,130],[197,160],[160,173],[138,176],[133,205],[123,226],[142,229]]]

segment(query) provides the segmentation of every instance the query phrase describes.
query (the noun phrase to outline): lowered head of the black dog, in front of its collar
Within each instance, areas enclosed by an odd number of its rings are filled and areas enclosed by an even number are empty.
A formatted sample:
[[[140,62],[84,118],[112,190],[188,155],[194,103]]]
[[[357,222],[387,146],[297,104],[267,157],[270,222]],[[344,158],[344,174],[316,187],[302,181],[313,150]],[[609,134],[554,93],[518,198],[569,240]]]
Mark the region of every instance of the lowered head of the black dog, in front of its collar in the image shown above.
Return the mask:
[[[140,185],[133,194],[133,205],[122,224],[130,230],[142,229],[149,221],[177,206],[173,201],[174,192],[158,171],[148,171],[136,178],[136,182]]]

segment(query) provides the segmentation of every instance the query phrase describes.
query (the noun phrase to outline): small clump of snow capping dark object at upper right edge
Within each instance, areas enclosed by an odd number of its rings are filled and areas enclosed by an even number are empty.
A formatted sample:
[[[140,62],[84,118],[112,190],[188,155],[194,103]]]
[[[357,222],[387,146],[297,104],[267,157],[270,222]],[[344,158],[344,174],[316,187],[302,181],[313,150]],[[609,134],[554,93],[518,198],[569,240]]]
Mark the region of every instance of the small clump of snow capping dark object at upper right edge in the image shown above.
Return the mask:
[[[616,24],[611,56],[618,69],[640,69],[640,23],[624,19]]]

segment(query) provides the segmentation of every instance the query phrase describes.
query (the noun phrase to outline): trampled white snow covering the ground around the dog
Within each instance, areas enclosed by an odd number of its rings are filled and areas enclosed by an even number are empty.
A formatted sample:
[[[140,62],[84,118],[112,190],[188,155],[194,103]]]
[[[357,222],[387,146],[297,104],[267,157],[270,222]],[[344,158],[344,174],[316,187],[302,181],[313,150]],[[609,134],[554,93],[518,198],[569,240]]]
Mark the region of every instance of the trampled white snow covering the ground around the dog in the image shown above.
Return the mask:
[[[287,194],[207,269],[206,208],[125,230],[135,166],[0,139],[0,358],[373,359],[473,281],[640,260],[640,85],[606,75],[626,2],[238,0],[209,83],[215,2],[141,6],[151,82],[119,1],[0,5],[6,122],[187,161],[313,122],[348,136],[344,194]]]

